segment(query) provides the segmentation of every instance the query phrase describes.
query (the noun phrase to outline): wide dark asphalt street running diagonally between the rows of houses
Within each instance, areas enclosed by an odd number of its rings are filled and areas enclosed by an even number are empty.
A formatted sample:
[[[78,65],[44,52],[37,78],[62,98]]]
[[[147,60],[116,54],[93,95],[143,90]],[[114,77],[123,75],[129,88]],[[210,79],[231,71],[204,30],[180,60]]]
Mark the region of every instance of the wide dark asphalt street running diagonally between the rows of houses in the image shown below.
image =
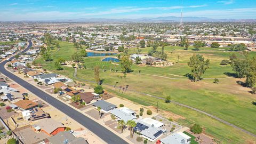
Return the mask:
[[[33,44],[31,43],[31,41],[29,41],[28,47],[24,51],[22,51],[22,52],[28,51],[32,45]],[[13,58],[14,57],[12,57],[10,59],[12,60]],[[5,60],[5,61],[0,63],[0,71],[5,76],[11,78],[13,81],[15,81],[16,83],[18,83],[21,86],[25,87],[30,92],[36,94],[39,98],[47,101],[52,106],[54,106],[55,108],[57,108],[60,111],[62,111],[63,113],[65,113],[67,116],[75,119],[75,121],[77,121],[78,123],[80,123],[83,126],[85,126],[87,129],[92,131],[94,134],[98,135],[98,137],[100,137],[105,142],[107,142],[107,143],[122,143],[122,144],[123,143],[127,143],[125,140],[121,139],[116,134],[114,134],[113,132],[109,131],[108,129],[106,129],[102,125],[98,124],[97,122],[94,122],[89,117],[86,117],[85,115],[79,113],[75,109],[66,106],[65,104],[63,104],[59,100],[53,98],[51,95],[43,92],[42,90],[38,89],[37,87],[29,84],[28,82],[24,81],[23,79],[19,78],[18,76],[15,76],[14,74],[12,74],[9,71],[7,71],[4,68],[4,65],[5,65],[6,62],[7,61]]]

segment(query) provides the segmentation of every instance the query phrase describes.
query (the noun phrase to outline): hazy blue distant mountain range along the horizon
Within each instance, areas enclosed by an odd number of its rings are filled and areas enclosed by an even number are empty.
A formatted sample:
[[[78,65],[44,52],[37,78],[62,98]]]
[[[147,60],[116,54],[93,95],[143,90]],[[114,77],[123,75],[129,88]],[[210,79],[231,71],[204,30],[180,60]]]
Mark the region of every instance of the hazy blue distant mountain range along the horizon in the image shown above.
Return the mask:
[[[139,19],[81,18],[49,20],[53,22],[180,22],[180,17],[157,17]],[[183,22],[256,22],[256,19],[212,19],[206,17],[183,17]]]

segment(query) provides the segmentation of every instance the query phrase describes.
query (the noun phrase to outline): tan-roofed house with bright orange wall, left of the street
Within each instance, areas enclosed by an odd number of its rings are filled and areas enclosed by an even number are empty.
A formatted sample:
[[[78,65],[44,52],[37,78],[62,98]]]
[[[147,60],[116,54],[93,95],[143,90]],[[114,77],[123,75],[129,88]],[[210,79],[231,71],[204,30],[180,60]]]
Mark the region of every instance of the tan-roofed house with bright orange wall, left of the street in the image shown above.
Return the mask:
[[[33,125],[33,128],[35,131],[44,132],[51,137],[52,135],[65,131],[66,127],[52,118],[44,118]]]

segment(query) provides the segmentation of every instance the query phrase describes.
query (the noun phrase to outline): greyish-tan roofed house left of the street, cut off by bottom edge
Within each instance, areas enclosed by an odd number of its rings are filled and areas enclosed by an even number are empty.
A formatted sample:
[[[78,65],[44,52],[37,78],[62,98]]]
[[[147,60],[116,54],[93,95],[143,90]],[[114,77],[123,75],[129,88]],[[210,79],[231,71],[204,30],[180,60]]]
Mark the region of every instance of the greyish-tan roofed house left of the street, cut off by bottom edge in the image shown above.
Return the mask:
[[[81,137],[76,138],[73,134],[67,131],[59,132],[58,134],[50,138],[47,138],[44,142],[46,144],[50,144],[50,143],[88,144],[88,142],[84,138],[81,138]]]

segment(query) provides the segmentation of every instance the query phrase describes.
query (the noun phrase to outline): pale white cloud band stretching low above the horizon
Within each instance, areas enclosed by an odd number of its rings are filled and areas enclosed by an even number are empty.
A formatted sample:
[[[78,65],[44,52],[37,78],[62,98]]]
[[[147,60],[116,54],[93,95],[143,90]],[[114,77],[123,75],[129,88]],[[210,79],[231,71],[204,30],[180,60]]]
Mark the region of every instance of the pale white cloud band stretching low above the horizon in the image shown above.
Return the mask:
[[[191,7],[191,6],[190,6]],[[151,10],[151,9],[180,9],[177,7],[119,7],[117,9],[110,9],[108,11],[101,11],[95,13],[87,12],[60,12],[60,11],[47,11],[35,12],[24,11],[21,13],[14,13],[13,10],[3,11],[0,15],[0,20],[55,20],[55,19],[77,19],[77,18],[143,18],[143,17],[180,17],[180,12],[165,12],[162,13],[139,13],[138,11]],[[189,10],[189,9],[188,9]],[[208,17],[213,19],[255,19],[256,8],[245,9],[226,9],[226,10],[201,10],[201,11],[183,11],[183,17]],[[136,13],[130,13],[136,12]],[[165,13],[164,13],[165,12]],[[119,14],[122,13],[122,14]],[[254,16],[252,16],[254,15]]]

